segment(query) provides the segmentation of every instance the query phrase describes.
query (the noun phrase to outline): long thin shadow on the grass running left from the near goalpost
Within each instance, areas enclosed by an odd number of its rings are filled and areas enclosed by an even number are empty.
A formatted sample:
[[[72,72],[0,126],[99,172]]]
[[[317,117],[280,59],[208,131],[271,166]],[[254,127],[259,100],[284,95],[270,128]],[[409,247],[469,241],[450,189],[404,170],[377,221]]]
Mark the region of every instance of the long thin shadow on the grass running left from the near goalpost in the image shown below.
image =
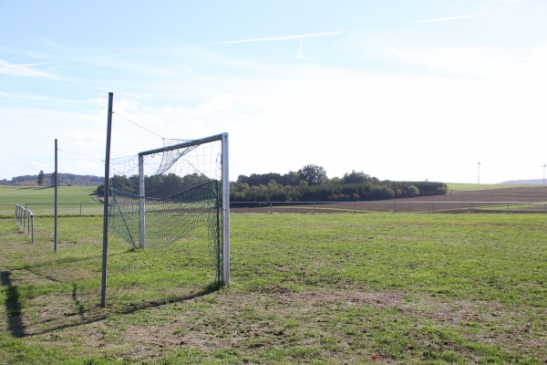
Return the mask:
[[[162,300],[150,300],[149,302],[139,303],[138,305],[131,305],[127,308],[116,308],[112,312],[108,312],[108,313],[104,313],[104,311],[106,309],[98,308],[98,306],[97,306],[97,307],[95,307],[95,309],[98,309],[103,313],[100,313],[100,314],[95,315],[95,316],[93,314],[91,314],[90,318],[86,318],[86,313],[88,313],[88,310],[85,310],[84,306],[77,299],[77,287],[76,287],[76,285],[73,285],[72,300],[74,301],[75,305],[78,308],[77,315],[79,315],[79,317],[80,317],[80,320],[78,320],[77,323],[70,323],[70,324],[57,326],[57,327],[54,327],[54,328],[48,328],[48,329],[45,329],[45,330],[42,330],[42,331],[34,332],[32,334],[22,333],[18,337],[29,337],[29,336],[43,335],[43,334],[50,333],[50,332],[56,332],[56,331],[62,330],[62,329],[76,328],[76,327],[79,327],[79,326],[85,326],[85,325],[88,325],[88,324],[100,322],[102,320],[107,319],[111,315],[131,314],[131,313],[134,313],[134,312],[138,312],[139,310],[143,310],[143,309],[157,308],[157,307],[168,305],[168,304],[184,302],[184,301],[187,301],[187,300],[194,299],[196,297],[205,297],[209,294],[212,294],[212,293],[220,290],[221,287],[222,287],[222,285],[220,285],[220,284],[212,283],[212,284],[208,285],[207,287],[203,287],[200,291],[198,291],[196,293],[186,295],[186,296],[168,297],[168,298],[165,298],[165,299],[162,299]]]

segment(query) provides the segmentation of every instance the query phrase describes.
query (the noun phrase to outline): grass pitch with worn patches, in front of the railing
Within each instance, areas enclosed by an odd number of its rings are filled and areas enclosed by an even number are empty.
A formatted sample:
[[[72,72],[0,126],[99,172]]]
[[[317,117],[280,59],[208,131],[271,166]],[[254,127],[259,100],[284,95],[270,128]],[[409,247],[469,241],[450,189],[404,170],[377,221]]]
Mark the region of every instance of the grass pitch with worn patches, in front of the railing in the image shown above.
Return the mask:
[[[206,233],[160,250],[100,217],[36,244],[0,219],[1,363],[547,361],[543,214],[232,214],[232,286]]]

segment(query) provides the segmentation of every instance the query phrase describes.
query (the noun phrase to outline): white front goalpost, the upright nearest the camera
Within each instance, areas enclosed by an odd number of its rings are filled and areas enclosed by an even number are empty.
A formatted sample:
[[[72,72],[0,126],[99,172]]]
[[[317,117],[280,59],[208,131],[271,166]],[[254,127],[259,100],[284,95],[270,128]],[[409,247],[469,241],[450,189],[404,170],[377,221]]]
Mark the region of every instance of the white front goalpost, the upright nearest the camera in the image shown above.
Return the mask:
[[[228,133],[222,134],[222,284],[230,285],[230,178]]]

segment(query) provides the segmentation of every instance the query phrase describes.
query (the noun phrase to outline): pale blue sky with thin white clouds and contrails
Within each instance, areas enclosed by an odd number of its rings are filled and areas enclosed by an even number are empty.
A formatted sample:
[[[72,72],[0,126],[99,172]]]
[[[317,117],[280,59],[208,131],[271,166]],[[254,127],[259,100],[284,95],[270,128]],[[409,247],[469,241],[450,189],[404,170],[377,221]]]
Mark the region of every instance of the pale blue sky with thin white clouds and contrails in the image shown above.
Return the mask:
[[[501,183],[547,162],[545,0],[0,0],[0,180],[230,138],[230,180]]]

